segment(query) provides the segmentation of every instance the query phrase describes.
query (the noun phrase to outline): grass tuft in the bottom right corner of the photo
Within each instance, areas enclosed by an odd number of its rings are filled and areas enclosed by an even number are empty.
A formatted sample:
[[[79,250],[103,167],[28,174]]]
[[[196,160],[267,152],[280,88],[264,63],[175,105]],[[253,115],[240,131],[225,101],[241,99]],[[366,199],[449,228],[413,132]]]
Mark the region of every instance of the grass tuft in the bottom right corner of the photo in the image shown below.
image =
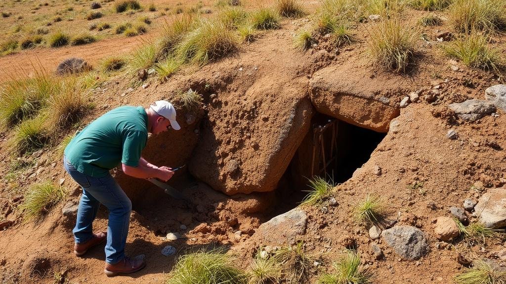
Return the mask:
[[[472,268],[455,276],[456,284],[506,284],[506,272],[492,267],[489,262],[478,260]]]

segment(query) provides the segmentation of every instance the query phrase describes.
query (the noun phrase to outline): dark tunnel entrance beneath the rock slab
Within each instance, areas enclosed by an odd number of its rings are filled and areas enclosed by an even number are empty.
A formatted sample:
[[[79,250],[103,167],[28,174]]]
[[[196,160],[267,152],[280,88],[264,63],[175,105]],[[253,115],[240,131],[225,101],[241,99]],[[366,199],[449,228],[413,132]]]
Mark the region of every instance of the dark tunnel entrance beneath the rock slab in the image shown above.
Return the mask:
[[[296,207],[310,190],[308,181],[314,176],[334,183],[350,179],[386,134],[317,114],[278,183],[277,213]]]

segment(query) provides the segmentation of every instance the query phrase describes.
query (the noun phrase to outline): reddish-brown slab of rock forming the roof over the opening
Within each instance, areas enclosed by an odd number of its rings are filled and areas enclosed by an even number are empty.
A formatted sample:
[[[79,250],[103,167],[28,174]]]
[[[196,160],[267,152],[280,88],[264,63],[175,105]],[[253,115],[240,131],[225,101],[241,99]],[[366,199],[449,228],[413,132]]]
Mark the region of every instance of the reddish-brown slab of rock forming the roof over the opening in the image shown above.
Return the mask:
[[[343,68],[341,68],[343,69]],[[348,123],[387,132],[390,121],[399,115],[397,106],[385,104],[385,97],[408,92],[402,90],[398,79],[356,76],[354,70],[327,67],[316,72],[309,82],[311,102],[320,113]]]

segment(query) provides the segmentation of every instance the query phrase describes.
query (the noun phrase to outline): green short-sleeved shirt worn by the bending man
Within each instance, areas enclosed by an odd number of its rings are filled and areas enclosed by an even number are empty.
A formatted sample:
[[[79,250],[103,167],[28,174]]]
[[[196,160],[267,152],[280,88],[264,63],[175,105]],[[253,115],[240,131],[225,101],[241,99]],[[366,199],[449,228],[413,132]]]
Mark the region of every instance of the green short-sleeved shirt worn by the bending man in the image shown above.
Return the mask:
[[[78,172],[103,177],[121,163],[137,167],[148,139],[143,107],[113,109],[80,131],[65,148],[65,157]]]

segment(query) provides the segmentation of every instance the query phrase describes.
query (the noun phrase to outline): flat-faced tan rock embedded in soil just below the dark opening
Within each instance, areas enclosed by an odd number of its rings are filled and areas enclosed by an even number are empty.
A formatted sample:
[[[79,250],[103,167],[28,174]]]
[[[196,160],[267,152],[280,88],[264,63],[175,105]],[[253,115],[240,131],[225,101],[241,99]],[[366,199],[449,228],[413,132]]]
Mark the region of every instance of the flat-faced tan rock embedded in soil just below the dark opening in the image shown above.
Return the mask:
[[[306,225],[306,212],[300,208],[294,208],[260,225],[256,234],[268,243],[282,244],[298,234],[306,233]]]

